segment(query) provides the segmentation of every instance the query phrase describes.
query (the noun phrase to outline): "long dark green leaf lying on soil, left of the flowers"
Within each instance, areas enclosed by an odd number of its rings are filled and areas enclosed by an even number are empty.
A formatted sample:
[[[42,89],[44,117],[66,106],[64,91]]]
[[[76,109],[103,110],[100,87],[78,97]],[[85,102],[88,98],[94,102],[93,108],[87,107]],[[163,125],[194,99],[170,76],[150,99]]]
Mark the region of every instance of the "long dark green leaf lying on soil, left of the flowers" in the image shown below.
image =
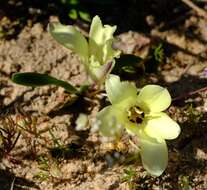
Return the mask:
[[[63,80],[58,80],[47,74],[32,73],[32,72],[15,73],[12,75],[11,80],[16,84],[31,86],[31,87],[56,85],[56,86],[61,86],[67,92],[78,93],[78,90],[75,87],[73,87],[71,84]]]

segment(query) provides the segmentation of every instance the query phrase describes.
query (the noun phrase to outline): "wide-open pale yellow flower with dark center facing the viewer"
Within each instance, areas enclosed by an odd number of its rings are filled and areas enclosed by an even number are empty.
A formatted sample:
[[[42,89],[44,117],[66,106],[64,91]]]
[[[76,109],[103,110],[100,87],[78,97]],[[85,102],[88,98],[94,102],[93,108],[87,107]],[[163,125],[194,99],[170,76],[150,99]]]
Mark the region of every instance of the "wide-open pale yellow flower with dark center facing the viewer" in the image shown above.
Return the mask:
[[[171,103],[169,92],[158,85],[146,85],[139,93],[134,84],[109,75],[105,83],[112,105],[97,116],[100,134],[119,138],[123,129],[138,136],[144,168],[152,175],[163,173],[168,162],[165,139],[175,139],[179,125],[166,113]]]

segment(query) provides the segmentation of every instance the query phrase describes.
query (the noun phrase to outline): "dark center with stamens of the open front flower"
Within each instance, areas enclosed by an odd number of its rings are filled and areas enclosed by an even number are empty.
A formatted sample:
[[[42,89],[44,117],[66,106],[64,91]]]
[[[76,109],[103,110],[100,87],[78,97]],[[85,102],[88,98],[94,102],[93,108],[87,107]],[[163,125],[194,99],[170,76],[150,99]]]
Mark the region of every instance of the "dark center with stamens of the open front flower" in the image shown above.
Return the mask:
[[[127,110],[127,117],[132,123],[140,124],[144,119],[144,112],[138,106],[133,106]]]

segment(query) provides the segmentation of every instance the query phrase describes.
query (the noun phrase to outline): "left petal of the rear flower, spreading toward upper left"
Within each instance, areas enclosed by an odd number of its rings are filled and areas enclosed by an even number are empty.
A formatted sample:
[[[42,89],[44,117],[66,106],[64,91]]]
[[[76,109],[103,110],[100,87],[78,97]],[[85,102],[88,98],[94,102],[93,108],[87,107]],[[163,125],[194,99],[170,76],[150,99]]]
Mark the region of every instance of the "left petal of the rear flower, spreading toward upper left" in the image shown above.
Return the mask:
[[[88,59],[88,42],[73,26],[50,23],[48,30],[57,42],[77,53],[84,61]]]

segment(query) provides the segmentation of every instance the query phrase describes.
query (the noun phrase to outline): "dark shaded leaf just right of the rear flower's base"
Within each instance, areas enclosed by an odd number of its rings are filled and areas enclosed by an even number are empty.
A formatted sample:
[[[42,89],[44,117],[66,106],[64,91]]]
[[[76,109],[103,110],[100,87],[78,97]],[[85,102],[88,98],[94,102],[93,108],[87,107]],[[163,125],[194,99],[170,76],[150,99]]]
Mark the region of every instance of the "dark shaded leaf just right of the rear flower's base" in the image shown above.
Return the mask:
[[[116,59],[114,72],[136,73],[136,68],[141,66],[142,58],[132,54],[122,54]]]

